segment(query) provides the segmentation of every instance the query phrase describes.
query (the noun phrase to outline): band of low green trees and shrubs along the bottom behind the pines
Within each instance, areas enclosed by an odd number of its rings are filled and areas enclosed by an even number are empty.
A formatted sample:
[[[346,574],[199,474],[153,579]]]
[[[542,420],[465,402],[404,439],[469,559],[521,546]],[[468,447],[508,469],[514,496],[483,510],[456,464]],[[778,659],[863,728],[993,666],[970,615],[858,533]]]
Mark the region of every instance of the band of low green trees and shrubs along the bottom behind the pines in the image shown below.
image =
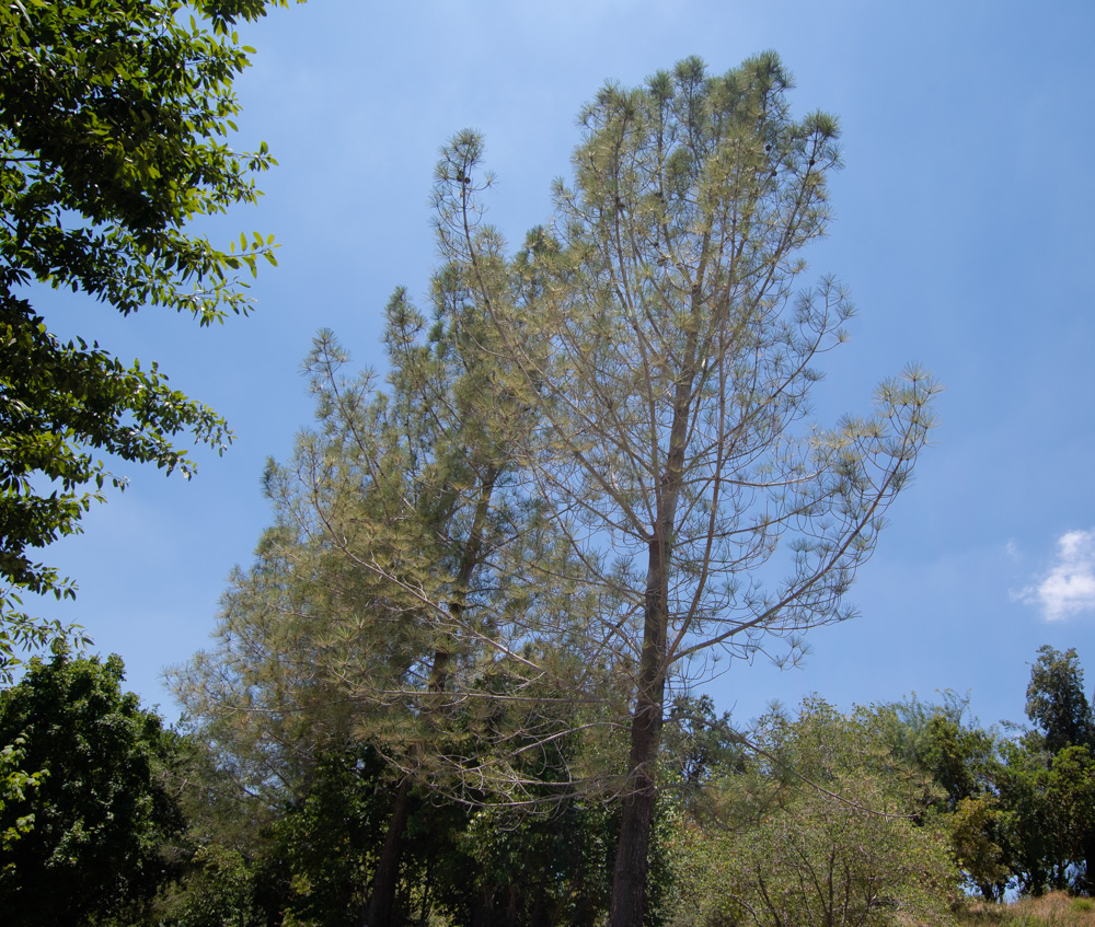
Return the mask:
[[[1075,654],[1070,665],[1074,682]],[[593,927],[608,916],[620,826],[608,792],[454,801],[391,764],[371,725],[347,735],[336,703],[313,704],[312,723],[252,766],[257,745],[240,727],[165,734],[119,680],[116,658],[59,657],[32,663],[0,698],[5,762],[37,770],[9,776],[0,795],[0,897],[21,923],[83,923],[87,899],[118,927],[374,923],[404,786],[391,909],[376,923]],[[1048,753],[1045,734],[1005,740],[950,694],[848,714],[816,698],[750,730],[706,697],[679,698],[666,717],[645,923],[945,925],[965,923],[964,883],[990,900],[1007,888],[1088,893],[1095,762],[1080,744]],[[620,768],[616,740],[590,729],[553,762]],[[275,761],[283,749],[297,760]],[[260,768],[280,774],[255,791]],[[81,891],[50,891],[56,880]]]

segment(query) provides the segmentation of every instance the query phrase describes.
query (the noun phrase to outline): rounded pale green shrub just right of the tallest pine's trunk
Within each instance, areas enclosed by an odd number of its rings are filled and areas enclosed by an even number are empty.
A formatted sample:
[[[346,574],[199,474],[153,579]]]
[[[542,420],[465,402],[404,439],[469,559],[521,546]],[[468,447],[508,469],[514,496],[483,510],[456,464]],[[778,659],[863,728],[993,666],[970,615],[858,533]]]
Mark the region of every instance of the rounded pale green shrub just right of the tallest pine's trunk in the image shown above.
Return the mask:
[[[722,823],[692,842],[680,925],[954,923],[958,873],[923,781],[868,711],[814,699],[762,719],[746,768],[716,786]]]

